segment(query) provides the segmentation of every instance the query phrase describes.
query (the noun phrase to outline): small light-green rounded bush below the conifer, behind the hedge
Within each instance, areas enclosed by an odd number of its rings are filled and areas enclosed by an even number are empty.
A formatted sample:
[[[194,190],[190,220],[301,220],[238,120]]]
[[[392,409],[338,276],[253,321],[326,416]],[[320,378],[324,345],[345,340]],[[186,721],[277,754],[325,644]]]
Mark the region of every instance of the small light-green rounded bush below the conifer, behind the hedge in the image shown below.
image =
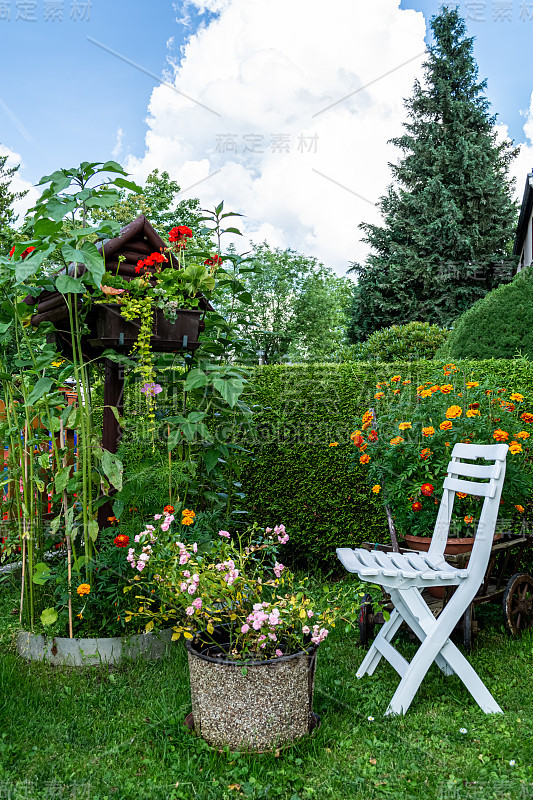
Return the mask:
[[[448,337],[445,328],[429,322],[408,322],[382,328],[359,345],[363,361],[415,361],[430,359]]]

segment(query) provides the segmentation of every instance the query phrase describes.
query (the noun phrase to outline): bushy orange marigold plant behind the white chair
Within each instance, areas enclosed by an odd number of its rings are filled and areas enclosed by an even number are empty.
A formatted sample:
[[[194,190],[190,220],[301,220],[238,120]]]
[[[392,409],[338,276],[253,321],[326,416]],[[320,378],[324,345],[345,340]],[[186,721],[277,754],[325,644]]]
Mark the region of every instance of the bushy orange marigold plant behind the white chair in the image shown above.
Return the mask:
[[[394,375],[378,384],[375,412],[363,414],[351,434],[358,461],[368,467],[372,491],[386,502],[402,534],[431,536],[441,487],[454,444],[509,444],[500,525],[519,525],[531,511],[529,440],[533,414],[524,396],[498,388],[454,364],[413,391],[411,381]],[[442,382],[443,381],[443,382]],[[533,428],[532,428],[533,430]],[[457,494],[450,532],[473,535],[482,498]]]

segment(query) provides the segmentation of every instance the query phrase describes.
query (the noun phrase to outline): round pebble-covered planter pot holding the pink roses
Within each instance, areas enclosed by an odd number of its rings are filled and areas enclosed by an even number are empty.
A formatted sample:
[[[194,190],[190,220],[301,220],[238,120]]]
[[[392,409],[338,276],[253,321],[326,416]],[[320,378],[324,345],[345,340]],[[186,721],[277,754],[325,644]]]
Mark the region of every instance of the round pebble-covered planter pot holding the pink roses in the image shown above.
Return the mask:
[[[317,724],[316,650],[235,664],[186,643],[194,730],[214,747],[265,751],[290,744]]]

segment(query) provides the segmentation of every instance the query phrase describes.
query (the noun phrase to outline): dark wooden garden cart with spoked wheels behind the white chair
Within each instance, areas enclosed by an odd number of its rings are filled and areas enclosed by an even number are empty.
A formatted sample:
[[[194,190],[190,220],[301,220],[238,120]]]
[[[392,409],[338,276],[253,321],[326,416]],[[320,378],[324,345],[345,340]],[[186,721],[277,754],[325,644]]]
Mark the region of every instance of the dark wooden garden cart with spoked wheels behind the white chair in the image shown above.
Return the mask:
[[[391,552],[392,545],[363,542],[367,550]],[[472,649],[473,637],[477,633],[474,619],[474,608],[482,603],[501,602],[503,607],[503,624],[510,636],[518,636],[523,630],[533,627],[533,577],[522,571],[524,554],[533,547],[533,536],[521,534],[503,534],[492,546],[489,564],[483,583],[470,606],[466,609],[456,632],[462,638],[465,650]],[[412,552],[409,548],[398,548],[400,553]],[[447,555],[446,561],[454,567],[465,567],[470,553]],[[442,597],[432,597],[424,590],[424,599],[435,616],[438,616],[455,587],[445,588]],[[387,596],[385,595],[385,600]],[[370,595],[365,601],[359,616],[359,633],[361,644],[366,645],[373,638],[374,626],[384,622],[383,613],[374,613]],[[385,605],[385,608],[388,608]],[[392,608],[392,605],[390,606]]]

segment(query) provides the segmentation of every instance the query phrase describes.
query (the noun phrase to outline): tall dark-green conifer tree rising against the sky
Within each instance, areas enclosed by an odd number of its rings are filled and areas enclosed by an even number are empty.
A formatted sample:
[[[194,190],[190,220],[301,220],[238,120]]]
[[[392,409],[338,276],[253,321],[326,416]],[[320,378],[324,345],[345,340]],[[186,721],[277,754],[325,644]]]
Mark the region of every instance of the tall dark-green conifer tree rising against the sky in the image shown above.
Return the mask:
[[[473,39],[457,9],[431,20],[434,43],[405,101],[394,182],[381,198],[383,224],[363,224],[371,254],[358,276],[349,336],[411,320],[449,325],[510,279],[516,204],[508,166],[517,150],[501,142],[478,82]]]

